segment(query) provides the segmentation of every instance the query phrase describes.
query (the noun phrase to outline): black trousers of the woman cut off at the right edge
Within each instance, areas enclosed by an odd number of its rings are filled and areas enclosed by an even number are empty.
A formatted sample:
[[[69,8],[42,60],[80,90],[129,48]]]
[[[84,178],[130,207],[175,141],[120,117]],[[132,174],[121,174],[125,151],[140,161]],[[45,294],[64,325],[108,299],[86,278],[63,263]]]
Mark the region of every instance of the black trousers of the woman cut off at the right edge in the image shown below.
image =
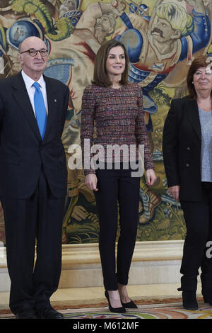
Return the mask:
[[[212,288],[212,258],[207,242],[212,241],[212,183],[202,183],[202,201],[181,201],[187,235],[180,273],[182,290],[196,290],[201,268],[202,288]]]

